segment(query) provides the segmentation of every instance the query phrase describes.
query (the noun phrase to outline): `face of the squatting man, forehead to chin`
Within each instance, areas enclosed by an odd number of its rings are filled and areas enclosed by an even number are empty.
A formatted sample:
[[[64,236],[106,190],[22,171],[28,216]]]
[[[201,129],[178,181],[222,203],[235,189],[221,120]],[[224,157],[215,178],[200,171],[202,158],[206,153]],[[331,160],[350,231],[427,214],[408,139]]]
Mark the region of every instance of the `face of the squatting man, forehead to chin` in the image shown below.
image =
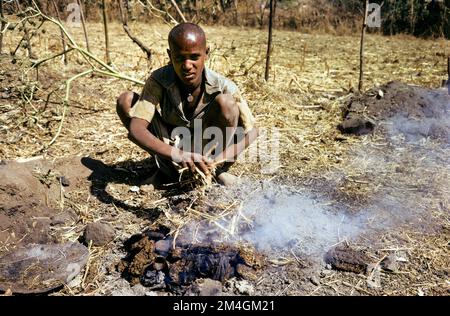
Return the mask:
[[[188,87],[197,87],[202,82],[203,69],[209,49],[195,34],[188,33],[171,43],[167,50],[178,78]]]

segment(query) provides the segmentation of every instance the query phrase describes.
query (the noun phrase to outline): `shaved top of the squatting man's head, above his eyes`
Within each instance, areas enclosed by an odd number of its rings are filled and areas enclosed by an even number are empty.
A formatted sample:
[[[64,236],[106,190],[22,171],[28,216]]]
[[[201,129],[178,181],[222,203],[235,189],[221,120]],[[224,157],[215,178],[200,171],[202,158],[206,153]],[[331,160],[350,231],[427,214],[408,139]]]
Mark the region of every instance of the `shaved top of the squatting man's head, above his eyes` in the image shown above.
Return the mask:
[[[200,45],[206,49],[206,35],[203,29],[194,23],[180,23],[169,33],[169,47]]]

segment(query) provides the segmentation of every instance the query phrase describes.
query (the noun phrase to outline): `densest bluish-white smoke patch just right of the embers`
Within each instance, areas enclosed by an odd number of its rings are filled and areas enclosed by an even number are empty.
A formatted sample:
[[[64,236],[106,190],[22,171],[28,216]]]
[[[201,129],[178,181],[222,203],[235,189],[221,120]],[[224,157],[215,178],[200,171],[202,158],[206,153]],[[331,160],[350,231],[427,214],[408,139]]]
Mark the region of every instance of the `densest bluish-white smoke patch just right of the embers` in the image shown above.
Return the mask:
[[[292,249],[305,255],[322,253],[365,228],[362,216],[337,212],[336,206],[306,192],[266,185],[263,194],[244,204],[245,214],[254,218],[254,223],[242,239],[266,252]]]

